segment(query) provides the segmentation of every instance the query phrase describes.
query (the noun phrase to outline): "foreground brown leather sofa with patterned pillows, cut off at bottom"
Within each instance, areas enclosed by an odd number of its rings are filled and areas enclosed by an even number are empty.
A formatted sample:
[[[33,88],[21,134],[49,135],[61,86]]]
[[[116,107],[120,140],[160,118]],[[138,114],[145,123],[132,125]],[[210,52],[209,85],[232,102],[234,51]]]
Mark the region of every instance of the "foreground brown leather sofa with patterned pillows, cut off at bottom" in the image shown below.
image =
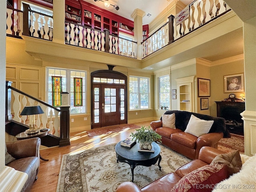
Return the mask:
[[[170,192],[174,185],[190,172],[208,165],[218,155],[225,153],[216,148],[204,146],[199,152],[198,159],[192,160],[176,169],[173,173],[168,173],[157,180],[149,183],[141,189],[133,182],[123,182],[118,186],[116,192]]]

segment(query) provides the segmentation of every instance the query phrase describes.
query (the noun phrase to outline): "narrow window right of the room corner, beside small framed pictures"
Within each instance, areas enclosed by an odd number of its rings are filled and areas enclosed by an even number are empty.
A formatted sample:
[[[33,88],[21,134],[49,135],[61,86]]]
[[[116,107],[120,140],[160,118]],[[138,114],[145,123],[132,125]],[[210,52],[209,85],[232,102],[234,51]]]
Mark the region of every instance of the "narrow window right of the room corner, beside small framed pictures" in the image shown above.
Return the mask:
[[[159,77],[159,108],[170,108],[170,76]]]

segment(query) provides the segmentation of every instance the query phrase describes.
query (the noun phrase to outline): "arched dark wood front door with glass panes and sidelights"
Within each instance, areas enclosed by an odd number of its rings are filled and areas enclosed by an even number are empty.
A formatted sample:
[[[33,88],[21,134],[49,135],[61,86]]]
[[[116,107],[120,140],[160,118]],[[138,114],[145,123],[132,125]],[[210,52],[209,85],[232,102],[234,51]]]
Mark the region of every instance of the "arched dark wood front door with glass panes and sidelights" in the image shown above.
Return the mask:
[[[91,127],[127,123],[127,76],[113,71],[91,73]]]

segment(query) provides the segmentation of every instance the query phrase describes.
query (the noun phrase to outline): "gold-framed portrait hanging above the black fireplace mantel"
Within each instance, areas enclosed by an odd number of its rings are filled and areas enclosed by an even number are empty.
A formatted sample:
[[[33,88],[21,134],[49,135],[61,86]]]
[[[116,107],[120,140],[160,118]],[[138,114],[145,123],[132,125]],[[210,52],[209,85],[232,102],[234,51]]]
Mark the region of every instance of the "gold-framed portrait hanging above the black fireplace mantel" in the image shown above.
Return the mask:
[[[224,93],[244,92],[244,74],[224,75]]]

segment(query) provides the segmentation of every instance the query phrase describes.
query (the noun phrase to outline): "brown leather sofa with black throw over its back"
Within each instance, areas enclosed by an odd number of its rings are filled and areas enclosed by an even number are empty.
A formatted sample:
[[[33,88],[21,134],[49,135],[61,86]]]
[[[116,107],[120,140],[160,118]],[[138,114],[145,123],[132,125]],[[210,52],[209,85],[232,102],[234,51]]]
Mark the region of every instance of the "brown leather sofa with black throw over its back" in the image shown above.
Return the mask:
[[[162,144],[188,158],[197,159],[199,151],[203,146],[217,148],[218,141],[221,138],[230,138],[230,133],[226,129],[224,118],[179,110],[169,110],[164,114],[173,113],[175,113],[176,129],[163,127],[162,116],[160,120],[151,122],[150,126],[155,132],[162,136]],[[207,134],[197,137],[184,132],[192,114],[200,120],[214,121]]]

